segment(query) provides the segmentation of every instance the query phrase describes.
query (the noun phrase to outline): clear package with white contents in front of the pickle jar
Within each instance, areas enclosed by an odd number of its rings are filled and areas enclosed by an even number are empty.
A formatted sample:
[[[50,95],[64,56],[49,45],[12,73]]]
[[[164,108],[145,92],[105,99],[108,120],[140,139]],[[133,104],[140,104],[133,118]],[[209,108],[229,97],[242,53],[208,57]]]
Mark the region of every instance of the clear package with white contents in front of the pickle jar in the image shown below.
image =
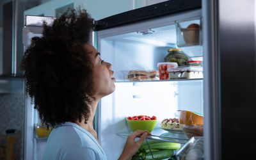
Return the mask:
[[[203,78],[203,68],[202,67],[178,67],[168,69],[170,79],[197,79]]]

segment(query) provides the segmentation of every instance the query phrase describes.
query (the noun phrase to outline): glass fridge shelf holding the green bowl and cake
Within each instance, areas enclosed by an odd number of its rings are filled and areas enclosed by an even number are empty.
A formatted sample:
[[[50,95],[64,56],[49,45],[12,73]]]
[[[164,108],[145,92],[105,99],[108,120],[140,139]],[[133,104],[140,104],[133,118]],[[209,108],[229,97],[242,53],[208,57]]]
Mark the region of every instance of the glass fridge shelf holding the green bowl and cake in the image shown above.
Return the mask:
[[[132,132],[121,132],[118,133],[119,136],[129,136]],[[159,141],[169,141],[173,143],[186,144],[189,138],[186,137],[185,134],[172,133],[168,131],[164,131],[161,128],[156,128],[151,132],[151,136],[147,136],[150,140],[159,140]]]

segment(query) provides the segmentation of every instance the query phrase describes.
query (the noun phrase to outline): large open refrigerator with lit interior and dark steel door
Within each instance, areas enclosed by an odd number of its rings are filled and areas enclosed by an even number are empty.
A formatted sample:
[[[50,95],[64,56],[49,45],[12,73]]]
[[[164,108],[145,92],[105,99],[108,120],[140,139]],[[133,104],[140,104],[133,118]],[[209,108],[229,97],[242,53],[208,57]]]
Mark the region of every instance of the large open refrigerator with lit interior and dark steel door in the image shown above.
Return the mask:
[[[238,12],[246,10],[246,12]],[[26,16],[24,49],[42,33],[42,20],[54,17]],[[246,1],[164,1],[95,20],[92,44],[102,60],[113,65],[115,92],[102,98],[94,127],[108,159],[118,159],[131,134],[126,118],[154,115],[157,125],[148,139],[180,143],[189,138],[161,129],[164,118],[178,110],[204,115],[202,159],[236,159],[253,152],[255,142],[255,3]],[[188,44],[182,28],[200,26],[196,44]],[[130,70],[157,70],[170,48],[180,48],[192,60],[203,61],[204,77],[129,81]],[[246,120],[244,120],[246,119]],[[26,99],[24,159],[41,159],[47,138],[36,138],[33,126],[40,122]],[[248,138],[248,140],[244,140]],[[237,153],[237,154],[234,154]],[[250,154],[243,154],[243,158]]]

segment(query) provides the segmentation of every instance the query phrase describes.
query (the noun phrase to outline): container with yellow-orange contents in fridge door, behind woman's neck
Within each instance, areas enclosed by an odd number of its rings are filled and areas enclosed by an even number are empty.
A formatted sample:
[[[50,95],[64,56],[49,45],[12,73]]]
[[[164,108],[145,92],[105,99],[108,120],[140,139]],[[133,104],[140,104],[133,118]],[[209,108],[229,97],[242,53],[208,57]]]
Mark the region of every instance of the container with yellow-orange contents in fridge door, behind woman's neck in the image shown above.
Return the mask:
[[[44,124],[35,124],[35,136],[36,138],[47,138],[52,131],[52,127],[48,127]]]

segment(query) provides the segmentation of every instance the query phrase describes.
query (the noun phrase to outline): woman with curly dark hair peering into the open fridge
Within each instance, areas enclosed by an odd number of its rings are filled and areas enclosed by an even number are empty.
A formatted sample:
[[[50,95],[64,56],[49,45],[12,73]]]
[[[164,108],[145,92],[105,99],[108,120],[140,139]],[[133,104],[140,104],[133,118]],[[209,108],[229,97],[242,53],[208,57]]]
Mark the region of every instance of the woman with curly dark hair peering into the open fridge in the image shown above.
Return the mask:
[[[91,29],[85,10],[69,10],[51,26],[44,23],[43,36],[32,38],[20,63],[35,109],[54,127],[43,159],[106,159],[93,117],[99,100],[114,92],[115,78],[111,64],[88,43]],[[119,159],[131,159],[148,134],[133,132]]]

